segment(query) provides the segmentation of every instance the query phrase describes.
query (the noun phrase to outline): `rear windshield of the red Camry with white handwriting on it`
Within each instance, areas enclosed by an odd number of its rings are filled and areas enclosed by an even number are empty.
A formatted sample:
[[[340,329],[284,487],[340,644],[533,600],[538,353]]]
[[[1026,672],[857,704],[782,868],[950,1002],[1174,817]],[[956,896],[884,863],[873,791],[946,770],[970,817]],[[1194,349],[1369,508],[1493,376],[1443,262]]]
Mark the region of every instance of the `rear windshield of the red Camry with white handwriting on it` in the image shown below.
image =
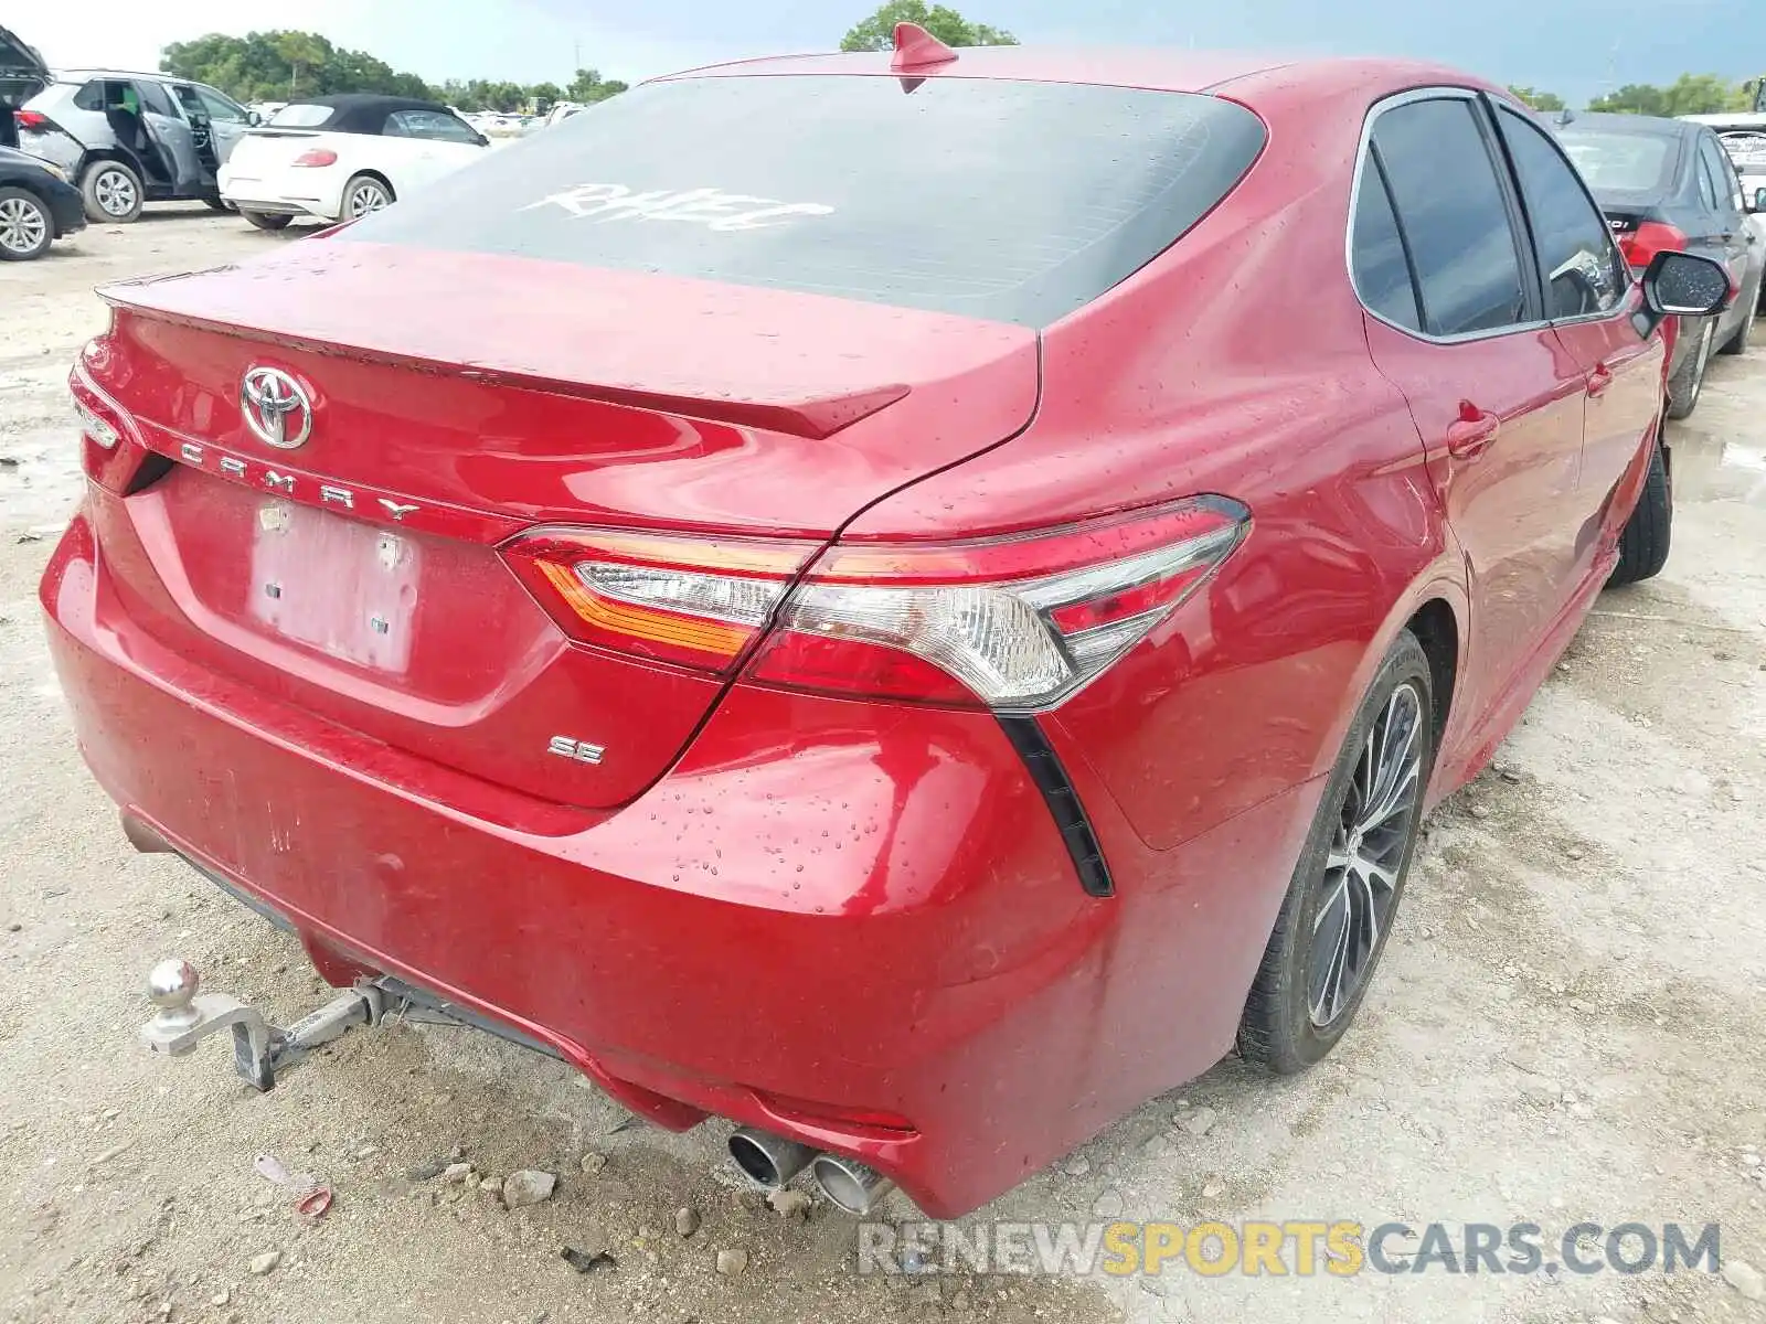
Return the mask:
[[[339,240],[662,272],[1044,327],[1196,224],[1264,143],[1173,92],[853,76],[653,83]]]

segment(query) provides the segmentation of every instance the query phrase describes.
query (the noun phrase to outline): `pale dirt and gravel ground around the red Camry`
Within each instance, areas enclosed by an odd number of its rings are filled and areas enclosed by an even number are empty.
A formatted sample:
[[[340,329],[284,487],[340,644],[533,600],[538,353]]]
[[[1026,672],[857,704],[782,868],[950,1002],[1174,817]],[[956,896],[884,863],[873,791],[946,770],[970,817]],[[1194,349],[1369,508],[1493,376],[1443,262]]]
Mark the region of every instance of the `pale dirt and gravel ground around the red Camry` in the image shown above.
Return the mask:
[[[291,941],[182,865],[134,854],[74,752],[34,598],[79,482],[62,383],[102,325],[92,284],[297,233],[168,212],[0,270],[4,1319],[1766,1319],[1740,1287],[1685,1271],[860,1278],[851,1223],[821,1204],[789,1222],[740,1190],[721,1128],[629,1126],[562,1068],[482,1036],[353,1034],[267,1096],[217,1043],[148,1057],[134,1034],[161,957],[279,1017],[318,987]],[[1280,1082],[1222,1063],[987,1216],[1536,1222],[1547,1236],[1717,1222],[1725,1260],[1766,1269],[1766,351],[1717,360],[1674,440],[1665,575],[1600,600],[1499,764],[1436,814],[1342,1049]],[[260,1153],[328,1181],[330,1215],[304,1225],[253,1172]],[[606,1165],[585,1172],[585,1155]],[[426,1176],[456,1156],[562,1179],[510,1213]],[[618,1264],[579,1275],[565,1246]],[[721,1250],[747,1252],[745,1271],[717,1273]]]

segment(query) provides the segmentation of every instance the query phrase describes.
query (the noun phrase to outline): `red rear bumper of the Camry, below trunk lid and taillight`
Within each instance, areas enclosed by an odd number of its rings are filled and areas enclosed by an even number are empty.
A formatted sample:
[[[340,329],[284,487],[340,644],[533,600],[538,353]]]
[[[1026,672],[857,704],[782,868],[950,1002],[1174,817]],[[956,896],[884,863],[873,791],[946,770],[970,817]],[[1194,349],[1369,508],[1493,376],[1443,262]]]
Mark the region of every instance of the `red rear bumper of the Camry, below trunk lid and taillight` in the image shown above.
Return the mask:
[[[1316,798],[1153,856],[1081,786],[1120,884],[1098,900],[992,718],[738,687],[634,803],[523,830],[162,648],[85,514],[41,597],[97,780],[328,978],[442,994],[664,1126],[864,1158],[941,1218],[1229,1050]]]

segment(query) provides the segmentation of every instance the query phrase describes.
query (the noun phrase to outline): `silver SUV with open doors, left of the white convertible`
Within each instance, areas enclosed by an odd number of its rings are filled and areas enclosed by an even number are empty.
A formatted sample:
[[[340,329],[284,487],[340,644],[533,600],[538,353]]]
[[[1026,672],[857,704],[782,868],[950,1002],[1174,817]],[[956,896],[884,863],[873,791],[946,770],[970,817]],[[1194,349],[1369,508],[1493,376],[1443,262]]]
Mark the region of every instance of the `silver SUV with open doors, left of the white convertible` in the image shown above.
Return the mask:
[[[221,207],[215,173],[254,117],[203,83],[76,69],[18,113],[19,147],[79,185],[87,217],[127,222],[150,201]]]

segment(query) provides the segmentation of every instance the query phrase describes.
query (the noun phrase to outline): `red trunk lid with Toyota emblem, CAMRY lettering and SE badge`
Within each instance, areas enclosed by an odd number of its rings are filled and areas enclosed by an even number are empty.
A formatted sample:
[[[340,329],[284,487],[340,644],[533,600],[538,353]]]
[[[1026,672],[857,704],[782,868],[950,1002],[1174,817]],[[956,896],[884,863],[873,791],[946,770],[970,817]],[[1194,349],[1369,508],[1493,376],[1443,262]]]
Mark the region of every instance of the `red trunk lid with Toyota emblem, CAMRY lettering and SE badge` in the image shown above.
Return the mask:
[[[812,549],[1037,402],[1021,327],[512,258],[321,240],[104,295],[85,371],[171,461],[125,498],[113,570],[166,643],[583,807],[641,793],[724,681],[567,641],[502,542],[577,524]],[[309,394],[297,448],[251,429],[256,367]]]

